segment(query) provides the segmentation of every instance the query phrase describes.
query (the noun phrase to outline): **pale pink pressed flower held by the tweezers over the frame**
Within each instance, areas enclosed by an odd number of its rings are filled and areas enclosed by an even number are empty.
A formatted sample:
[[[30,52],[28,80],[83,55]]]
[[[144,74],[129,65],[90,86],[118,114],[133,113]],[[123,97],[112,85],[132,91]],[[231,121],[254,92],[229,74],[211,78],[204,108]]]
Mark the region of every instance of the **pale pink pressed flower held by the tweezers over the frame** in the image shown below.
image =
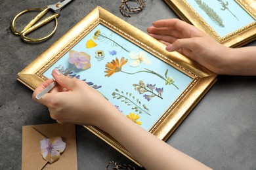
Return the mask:
[[[91,67],[91,56],[85,52],[70,50],[69,63],[72,63],[77,69],[89,69]]]

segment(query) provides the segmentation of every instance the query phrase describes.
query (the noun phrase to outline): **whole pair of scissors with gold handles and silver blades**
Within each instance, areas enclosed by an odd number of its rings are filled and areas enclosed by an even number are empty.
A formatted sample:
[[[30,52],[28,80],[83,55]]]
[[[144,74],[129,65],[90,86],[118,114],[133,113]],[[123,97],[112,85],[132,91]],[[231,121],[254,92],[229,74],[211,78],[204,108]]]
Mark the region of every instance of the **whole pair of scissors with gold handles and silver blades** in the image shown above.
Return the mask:
[[[73,0],[63,0],[60,1],[54,5],[47,5],[47,7],[45,7],[44,9],[27,9],[27,10],[23,10],[22,12],[18,13],[12,20],[11,22],[11,31],[12,33],[14,33],[14,35],[20,35],[20,38],[23,39],[26,42],[41,42],[41,41],[45,41],[46,39],[48,39],[49,37],[51,37],[53,35],[53,33],[56,31],[56,28],[58,26],[58,20],[57,17],[60,16],[60,10],[65,7],[66,5],[68,5],[68,3],[70,3],[70,1]],[[44,20],[39,21],[45,14],[47,14],[47,12],[49,10],[53,10],[55,13],[52,14],[51,16],[48,16],[47,18],[45,18]],[[22,31],[17,31],[16,27],[15,27],[15,22],[16,20],[22,15],[25,14],[26,12],[32,12],[32,11],[41,11],[39,14],[37,14],[37,16],[35,16],[35,18],[33,18],[33,20],[30,21],[30,23],[28,23],[28,25],[26,25],[26,27],[24,27],[24,29],[22,29]],[[51,20],[55,19],[55,27],[53,29],[53,31],[43,37],[43,38],[30,38],[27,37],[26,35],[28,35],[28,33],[31,33],[32,31],[34,31],[35,29],[51,22]],[[39,21],[37,24],[35,24],[37,21]]]

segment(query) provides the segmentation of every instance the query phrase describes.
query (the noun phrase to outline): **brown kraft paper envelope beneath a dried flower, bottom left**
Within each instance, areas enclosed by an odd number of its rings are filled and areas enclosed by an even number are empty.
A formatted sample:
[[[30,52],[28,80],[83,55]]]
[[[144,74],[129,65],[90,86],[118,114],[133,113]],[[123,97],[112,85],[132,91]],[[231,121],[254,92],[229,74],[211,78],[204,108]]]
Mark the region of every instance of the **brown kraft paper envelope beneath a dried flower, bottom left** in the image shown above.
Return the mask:
[[[66,148],[57,161],[47,163],[40,154],[40,141],[51,137],[62,137],[62,141],[66,143]],[[30,169],[77,169],[75,125],[41,124],[22,126],[22,170]]]

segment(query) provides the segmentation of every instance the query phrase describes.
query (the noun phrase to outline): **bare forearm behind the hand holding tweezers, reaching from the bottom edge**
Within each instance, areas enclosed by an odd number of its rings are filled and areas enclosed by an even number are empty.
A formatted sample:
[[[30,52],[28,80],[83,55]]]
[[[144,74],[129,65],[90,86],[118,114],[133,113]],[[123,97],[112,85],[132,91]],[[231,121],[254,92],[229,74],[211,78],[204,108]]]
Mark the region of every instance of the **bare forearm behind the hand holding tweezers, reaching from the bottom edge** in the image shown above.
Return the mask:
[[[121,143],[146,169],[209,169],[115,110],[112,109],[100,128]]]

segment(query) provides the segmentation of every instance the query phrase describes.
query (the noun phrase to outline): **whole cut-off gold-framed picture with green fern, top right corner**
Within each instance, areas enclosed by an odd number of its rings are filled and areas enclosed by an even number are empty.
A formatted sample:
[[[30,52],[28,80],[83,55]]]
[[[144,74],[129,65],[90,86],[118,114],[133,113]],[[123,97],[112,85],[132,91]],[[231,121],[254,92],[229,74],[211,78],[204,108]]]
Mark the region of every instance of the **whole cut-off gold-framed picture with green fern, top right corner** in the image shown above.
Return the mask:
[[[182,20],[195,25],[225,46],[239,47],[256,39],[255,1],[163,1]]]

